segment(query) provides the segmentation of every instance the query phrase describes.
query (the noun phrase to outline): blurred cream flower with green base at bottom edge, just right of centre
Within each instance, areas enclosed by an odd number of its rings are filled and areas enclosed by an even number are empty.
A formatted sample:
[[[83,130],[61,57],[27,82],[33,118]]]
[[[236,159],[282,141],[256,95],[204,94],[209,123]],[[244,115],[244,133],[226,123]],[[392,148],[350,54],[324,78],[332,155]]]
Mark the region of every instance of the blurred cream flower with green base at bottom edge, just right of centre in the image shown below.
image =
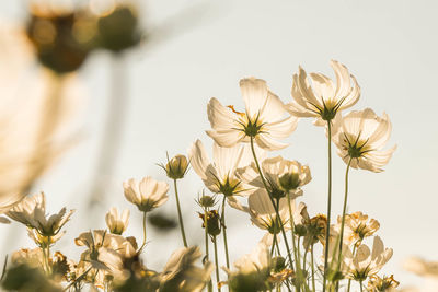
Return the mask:
[[[235,270],[228,273],[230,291],[266,291],[269,290],[270,255],[264,242],[260,242],[251,254],[244,255],[234,261]]]

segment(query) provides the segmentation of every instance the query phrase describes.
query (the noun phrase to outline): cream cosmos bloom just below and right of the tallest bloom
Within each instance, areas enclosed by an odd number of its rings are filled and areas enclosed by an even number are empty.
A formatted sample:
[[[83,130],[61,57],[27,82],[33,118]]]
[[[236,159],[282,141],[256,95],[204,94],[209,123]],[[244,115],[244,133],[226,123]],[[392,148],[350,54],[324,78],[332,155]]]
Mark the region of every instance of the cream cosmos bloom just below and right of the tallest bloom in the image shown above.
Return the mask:
[[[379,117],[370,108],[354,110],[334,130],[337,154],[345,163],[351,159],[350,166],[354,168],[382,172],[381,167],[388,164],[396,148],[381,150],[390,138],[391,128],[391,121],[384,113]]]

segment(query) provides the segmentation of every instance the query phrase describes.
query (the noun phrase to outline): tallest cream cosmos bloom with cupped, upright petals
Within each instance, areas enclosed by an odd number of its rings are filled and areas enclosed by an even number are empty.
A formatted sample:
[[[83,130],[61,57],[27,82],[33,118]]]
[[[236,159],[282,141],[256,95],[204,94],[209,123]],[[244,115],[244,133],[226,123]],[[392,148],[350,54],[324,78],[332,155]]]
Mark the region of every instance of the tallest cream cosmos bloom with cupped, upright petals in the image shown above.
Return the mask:
[[[310,73],[299,67],[298,74],[293,74],[292,97],[295,102],[286,108],[297,117],[315,117],[315,125],[324,126],[326,120],[335,118],[343,109],[351,107],[360,96],[360,87],[348,69],[338,61],[332,60],[336,84],[324,74]],[[353,85],[351,85],[353,80]]]

